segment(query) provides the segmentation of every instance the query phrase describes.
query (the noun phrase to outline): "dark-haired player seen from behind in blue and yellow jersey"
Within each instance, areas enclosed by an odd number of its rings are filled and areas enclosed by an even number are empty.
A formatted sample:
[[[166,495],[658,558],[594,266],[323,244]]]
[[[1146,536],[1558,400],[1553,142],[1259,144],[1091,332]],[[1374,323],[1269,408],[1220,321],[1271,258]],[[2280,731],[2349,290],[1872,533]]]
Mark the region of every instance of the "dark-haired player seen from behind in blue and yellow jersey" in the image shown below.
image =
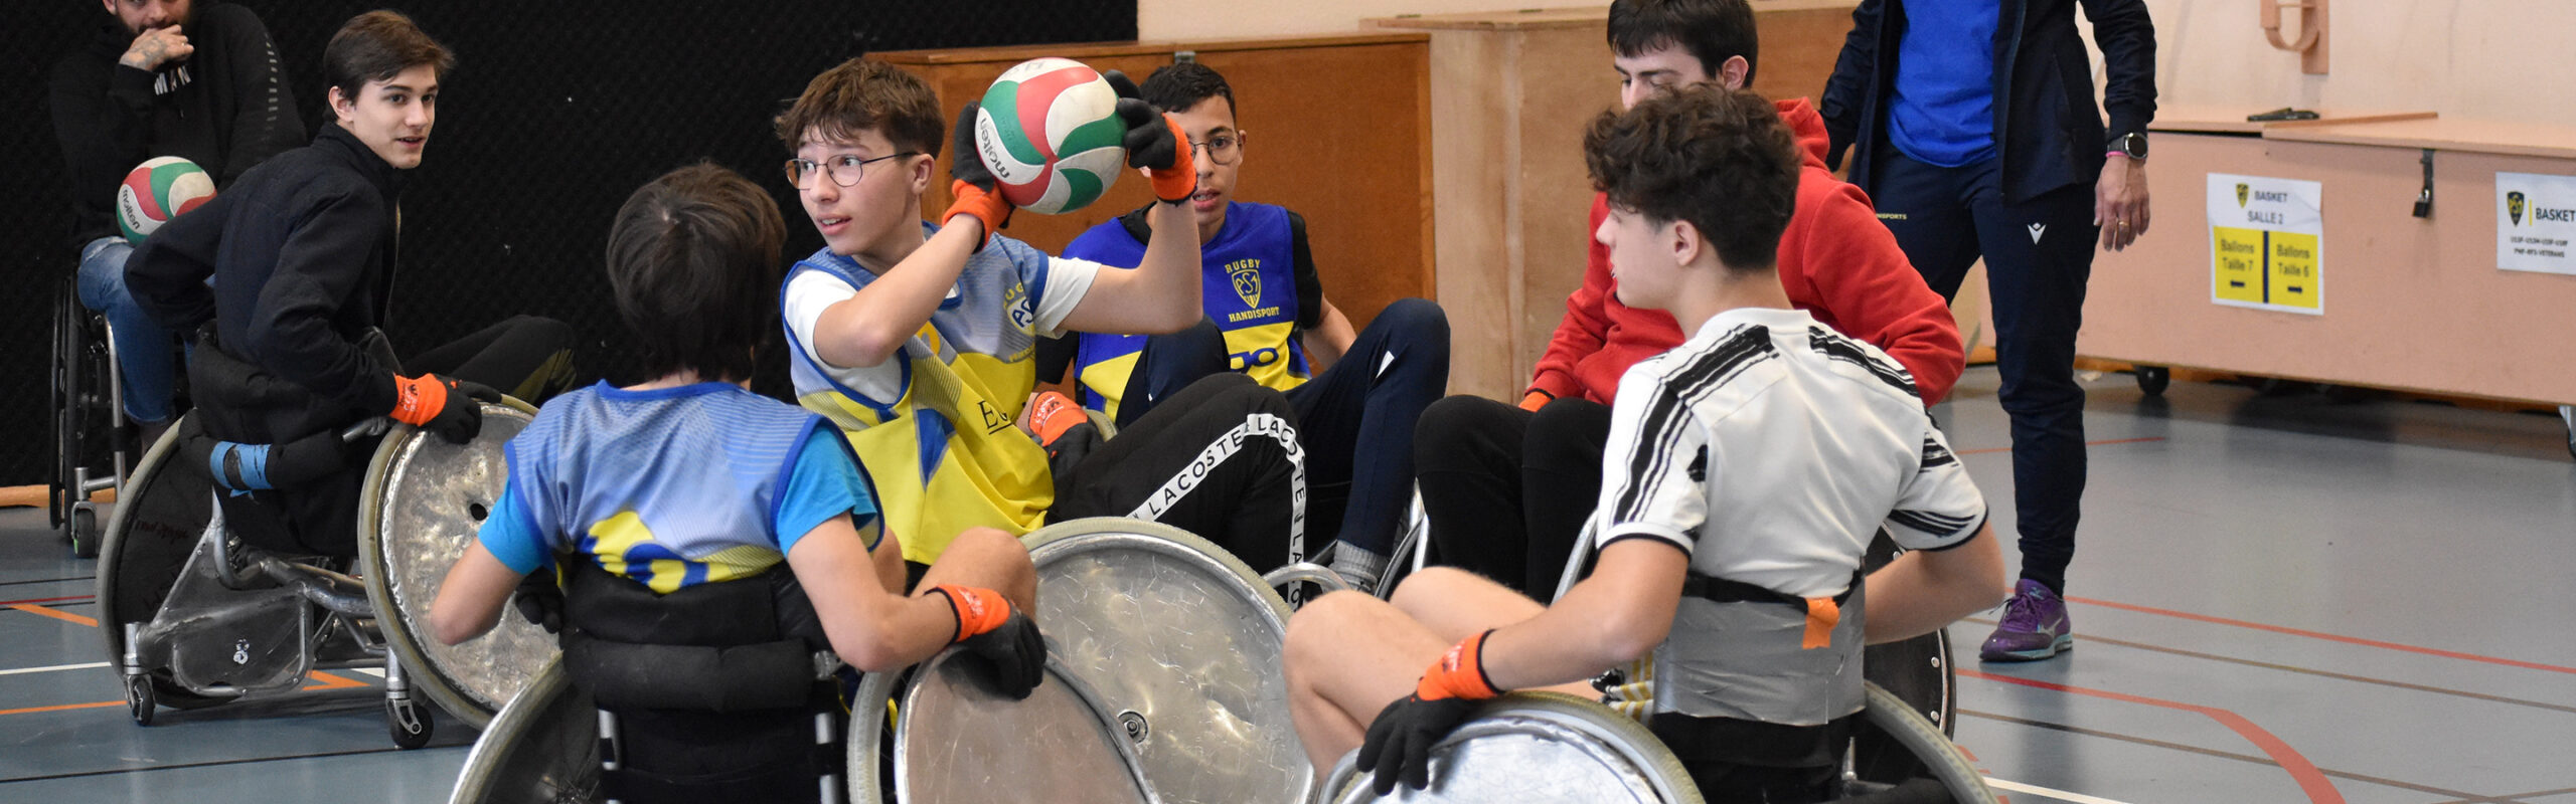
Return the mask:
[[[618,209],[608,281],[647,374],[546,402],[430,603],[446,644],[495,626],[528,572],[562,577],[564,673],[618,716],[629,801],[811,801],[814,652],[866,673],[963,644],[1025,698],[1046,644],[1007,533],[948,533],[907,593],[899,536],[824,417],[747,389],[778,325],[778,204],[696,165]]]

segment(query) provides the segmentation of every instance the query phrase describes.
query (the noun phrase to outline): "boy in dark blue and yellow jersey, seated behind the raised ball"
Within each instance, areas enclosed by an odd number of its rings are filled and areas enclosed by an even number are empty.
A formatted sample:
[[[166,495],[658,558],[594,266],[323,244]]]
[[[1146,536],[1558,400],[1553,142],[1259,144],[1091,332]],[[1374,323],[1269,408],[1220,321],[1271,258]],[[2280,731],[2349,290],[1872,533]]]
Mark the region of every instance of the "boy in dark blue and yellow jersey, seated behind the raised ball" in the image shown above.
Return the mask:
[[[1242,371],[1285,392],[1314,490],[1306,533],[1316,541],[1337,536],[1334,570],[1358,588],[1373,588],[1412,503],[1414,420],[1448,389],[1448,317],[1427,299],[1401,299],[1352,335],[1316,278],[1306,219],[1283,206],[1234,201],[1247,139],[1234,121],[1226,77],[1208,64],[1180,62],[1154,70],[1141,93],[1190,139],[1190,168],[1198,170],[1198,191],[1190,193],[1198,229],[1190,235],[1200,250],[1206,317],[1172,335],[1079,332],[1041,343],[1038,376],[1061,376],[1069,361],[1082,407],[1121,425],[1218,371]],[[1136,263],[1154,240],[1154,206],[1082,232],[1064,255]],[[1056,361],[1046,358],[1048,350]]]

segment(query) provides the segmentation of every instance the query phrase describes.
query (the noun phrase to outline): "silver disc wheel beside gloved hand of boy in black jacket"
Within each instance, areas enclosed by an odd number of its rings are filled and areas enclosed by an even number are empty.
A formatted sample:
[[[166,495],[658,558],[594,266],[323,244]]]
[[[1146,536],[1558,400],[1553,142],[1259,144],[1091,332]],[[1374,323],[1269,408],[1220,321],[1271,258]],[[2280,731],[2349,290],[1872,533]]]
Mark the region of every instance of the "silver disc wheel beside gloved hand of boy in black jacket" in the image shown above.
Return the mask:
[[[559,655],[554,634],[507,613],[489,634],[453,647],[428,629],[438,582],[474,544],[510,477],[502,446],[536,410],[518,399],[482,402],[482,417],[471,443],[394,428],[376,446],[358,497],[358,575],[386,647],[415,693],[477,729]]]

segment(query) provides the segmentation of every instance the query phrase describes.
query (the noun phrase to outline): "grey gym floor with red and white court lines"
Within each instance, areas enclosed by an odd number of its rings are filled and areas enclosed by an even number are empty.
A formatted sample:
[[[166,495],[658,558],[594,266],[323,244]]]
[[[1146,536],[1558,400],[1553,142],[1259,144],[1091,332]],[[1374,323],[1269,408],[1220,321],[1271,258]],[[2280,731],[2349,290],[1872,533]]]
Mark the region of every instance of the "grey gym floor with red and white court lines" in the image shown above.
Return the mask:
[[[2009,801],[2576,804],[2576,464],[2555,415],[2177,381],[2087,387],[2076,649],[1978,665],[1958,742]],[[2012,515],[1994,368],[1940,407]],[[2007,554],[2012,554],[2007,549]],[[93,562],[0,510],[0,801],[446,801],[381,678],[126,719]]]

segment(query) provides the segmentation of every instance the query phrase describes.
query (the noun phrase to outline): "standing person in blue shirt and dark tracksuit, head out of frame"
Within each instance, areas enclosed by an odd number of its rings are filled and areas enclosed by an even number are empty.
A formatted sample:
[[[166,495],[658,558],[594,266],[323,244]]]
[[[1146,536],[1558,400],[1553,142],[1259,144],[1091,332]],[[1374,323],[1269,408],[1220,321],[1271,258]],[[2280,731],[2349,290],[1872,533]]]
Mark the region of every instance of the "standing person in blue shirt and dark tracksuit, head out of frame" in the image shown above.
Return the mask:
[[[2110,75],[2099,106],[2079,3]],[[1981,657],[2053,657],[2074,647],[2061,595],[2084,497],[2084,281],[2097,242],[2123,250],[2148,222],[2146,0],[1862,0],[1821,106],[1829,160],[1852,147],[1852,183],[1935,291],[1955,296],[1986,258],[2022,577]]]

